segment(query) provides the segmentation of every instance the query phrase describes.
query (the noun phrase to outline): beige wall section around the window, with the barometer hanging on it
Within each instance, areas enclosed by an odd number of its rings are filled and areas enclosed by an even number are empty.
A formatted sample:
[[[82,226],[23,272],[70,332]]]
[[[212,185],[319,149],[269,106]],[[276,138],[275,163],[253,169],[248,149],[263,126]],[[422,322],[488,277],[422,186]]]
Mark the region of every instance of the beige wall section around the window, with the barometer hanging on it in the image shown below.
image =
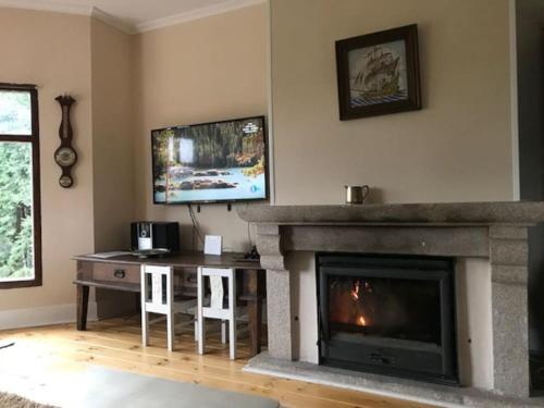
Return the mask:
[[[70,257],[92,251],[92,157],[89,18],[0,8],[0,82],[38,85],[44,286],[1,290],[0,310],[75,302]],[[78,154],[75,185],[59,186],[53,152],[61,111],[54,98],[76,100],[72,124]]]

